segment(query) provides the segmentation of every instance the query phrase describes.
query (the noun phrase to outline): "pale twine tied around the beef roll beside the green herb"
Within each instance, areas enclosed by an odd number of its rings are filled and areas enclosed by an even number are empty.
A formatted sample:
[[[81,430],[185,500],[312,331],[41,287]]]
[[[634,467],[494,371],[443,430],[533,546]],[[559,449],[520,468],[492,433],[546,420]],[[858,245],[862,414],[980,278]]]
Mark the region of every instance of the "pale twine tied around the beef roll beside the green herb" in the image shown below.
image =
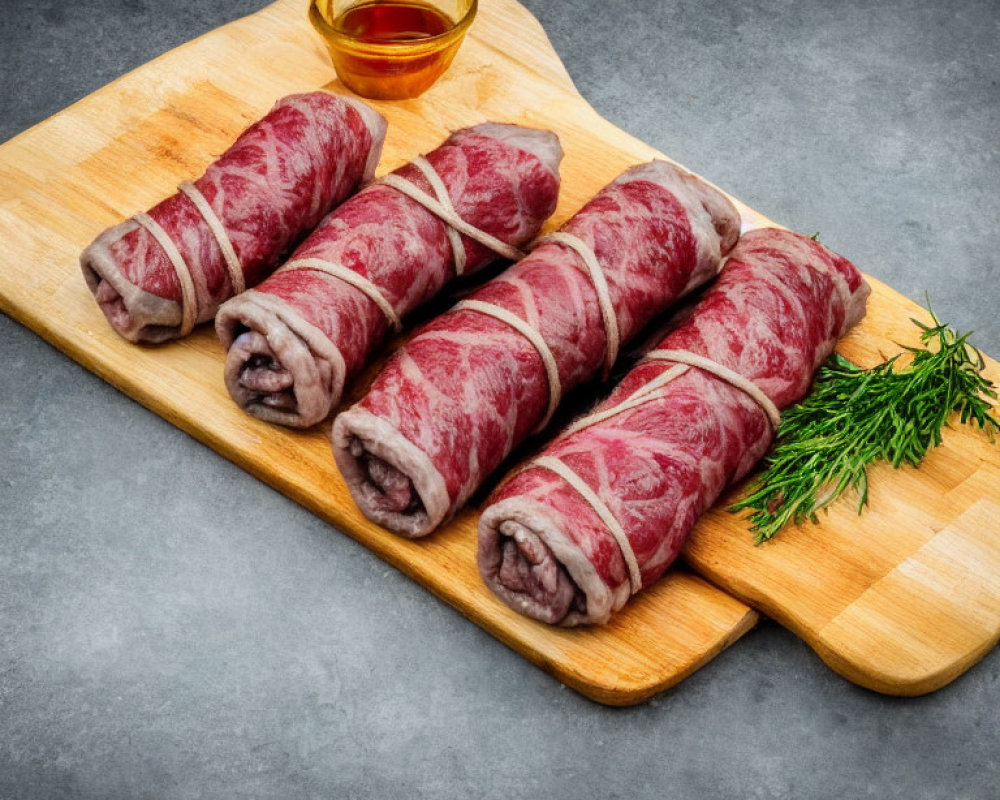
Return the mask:
[[[622,402],[618,403],[611,408],[607,408],[604,411],[599,411],[594,414],[590,414],[582,419],[578,420],[576,423],[567,428],[562,437],[569,436],[583,428],[590,427],[591,425],[596,425],[599,422],[603,422],[617,414],[621,414],[624,411],[635,408],[636,406],[642,405],[650,400],[655,399],[657,395],[657,390],[666,386],[668,383],[676,378],[679,378],[685,372],[687,372],[691,367],[696,367],[697,369],[704,370],[705,372],[710,372],[713,375],[722,378],[730,385],[740,389],[749,395],[767,414],[768,420],[771,422],[771,426],[777,430],[778,425],[781,422],[781,413],[778,411],[777,406],[771,402],[764,391],[757,386],[753,381],[743,377],[738,372],[735,372],[729,367],[719,364],[717,361],[712,361],[704,356],[697,355],[696,353],[691,353],[687,350],[652,350],[646,354],[644,361],[673,361],[674,366],[668,369],[666,372],[662,372],[657,375],[649,383],[640,386]],[[632,589],[632,594],[635,594],[642,588],[642,576],[639,571],[639,562],[635,557],[635,551],[632,549],[632,544],[628,540],[628,536],[625,534],[625,530],[619,524],[618,520],[615,519],[611,509],[604,503],[603,500],[594,492],[590,486],[587,485],[586,481],[583,480],[579,475],[577,475],[570,467],[566,465],[565,462],[560,461],[554,456],[542,456],[536,458],[533,461],[528,462],[524,469],[530,469],[532,467],[539,467],[541,469],[547,469],[550,472],[554,472],[560,478],[566,481],[573,489],[576,490],[591,508],[594,509],[597,516],[601,518],[601,521],[607,526],[608,531],[614,536],[615,541],[618,542],[618,547],[621,549],[622,558],[625,559],[625,564],[628,567],[629,574],[629,585]]]

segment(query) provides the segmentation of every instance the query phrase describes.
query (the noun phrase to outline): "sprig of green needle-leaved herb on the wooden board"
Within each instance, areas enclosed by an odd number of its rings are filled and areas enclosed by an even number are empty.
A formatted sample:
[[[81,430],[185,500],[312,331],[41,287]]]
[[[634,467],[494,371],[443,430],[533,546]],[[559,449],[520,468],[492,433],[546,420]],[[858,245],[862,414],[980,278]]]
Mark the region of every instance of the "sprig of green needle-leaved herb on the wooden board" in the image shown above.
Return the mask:
[[[860,514],[868,503],[868,465],[919,465],[941,443],[952,412],[992,439],[1000,422],[987,398],[997,394],[982,375],[983,356],[969,334],[958,336],[930,314],[933,326],[913,320],[923,348],[905,348],[913,354],[908,367],[896,368],[902,353],[868,370],[834,355],[805,400],[785,410],[763,473],[730,508],[752,510],[756,544],[789,522],[818,522],[816,512],[849,489],[858,493]]]

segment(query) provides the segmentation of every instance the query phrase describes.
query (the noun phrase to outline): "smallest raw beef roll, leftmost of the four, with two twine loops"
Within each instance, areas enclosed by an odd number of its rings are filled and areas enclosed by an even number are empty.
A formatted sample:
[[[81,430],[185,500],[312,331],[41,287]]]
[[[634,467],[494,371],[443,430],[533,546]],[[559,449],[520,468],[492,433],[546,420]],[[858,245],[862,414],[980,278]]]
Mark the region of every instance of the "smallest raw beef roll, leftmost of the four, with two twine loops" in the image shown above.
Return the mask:
[[[351,98],[279,100],[201,178],[83,251],[87,286],[112,327],[133,342],[163,342],[214,317],[372,179],[385,128]]]

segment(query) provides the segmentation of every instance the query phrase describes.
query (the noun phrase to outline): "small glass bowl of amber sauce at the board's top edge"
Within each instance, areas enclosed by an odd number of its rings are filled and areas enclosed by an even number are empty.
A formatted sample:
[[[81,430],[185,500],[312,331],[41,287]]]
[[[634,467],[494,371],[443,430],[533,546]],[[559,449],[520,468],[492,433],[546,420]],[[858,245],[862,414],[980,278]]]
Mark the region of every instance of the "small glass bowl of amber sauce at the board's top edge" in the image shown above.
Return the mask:
[[[309,20],[337,77],[377,100],[416,97],[451,65],[476,0],[312,0]]]

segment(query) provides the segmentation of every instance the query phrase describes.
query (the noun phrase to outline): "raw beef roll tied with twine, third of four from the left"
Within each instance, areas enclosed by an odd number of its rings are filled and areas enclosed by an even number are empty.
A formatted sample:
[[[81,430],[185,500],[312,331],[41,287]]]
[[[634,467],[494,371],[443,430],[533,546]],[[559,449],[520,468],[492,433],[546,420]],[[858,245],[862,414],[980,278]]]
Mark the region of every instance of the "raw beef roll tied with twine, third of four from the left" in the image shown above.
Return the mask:
[[[658,311],[713,277],[739,235],[719,192],[654,161],[397,351],[334,422],[337,464],[374,522],[423,536],[562,394],[614,363]]]

